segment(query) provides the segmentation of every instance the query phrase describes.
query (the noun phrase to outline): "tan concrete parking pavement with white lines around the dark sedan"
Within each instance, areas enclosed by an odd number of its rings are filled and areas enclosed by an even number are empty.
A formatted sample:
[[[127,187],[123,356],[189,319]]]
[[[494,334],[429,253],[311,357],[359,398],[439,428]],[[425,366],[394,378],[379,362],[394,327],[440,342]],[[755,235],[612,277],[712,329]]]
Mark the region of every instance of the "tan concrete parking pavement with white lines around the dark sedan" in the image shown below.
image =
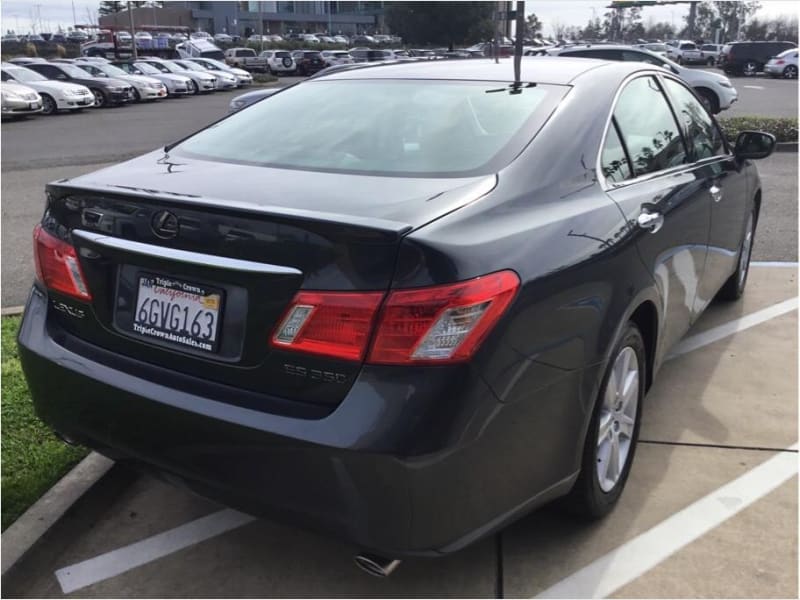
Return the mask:
[[[797,304],[796,266],[756,266],[742,301],[709,308],[648,394],[628,486],[602,521],[545,507],[379,580],[348,544],[118,467],[4,596],[795,596]]]

